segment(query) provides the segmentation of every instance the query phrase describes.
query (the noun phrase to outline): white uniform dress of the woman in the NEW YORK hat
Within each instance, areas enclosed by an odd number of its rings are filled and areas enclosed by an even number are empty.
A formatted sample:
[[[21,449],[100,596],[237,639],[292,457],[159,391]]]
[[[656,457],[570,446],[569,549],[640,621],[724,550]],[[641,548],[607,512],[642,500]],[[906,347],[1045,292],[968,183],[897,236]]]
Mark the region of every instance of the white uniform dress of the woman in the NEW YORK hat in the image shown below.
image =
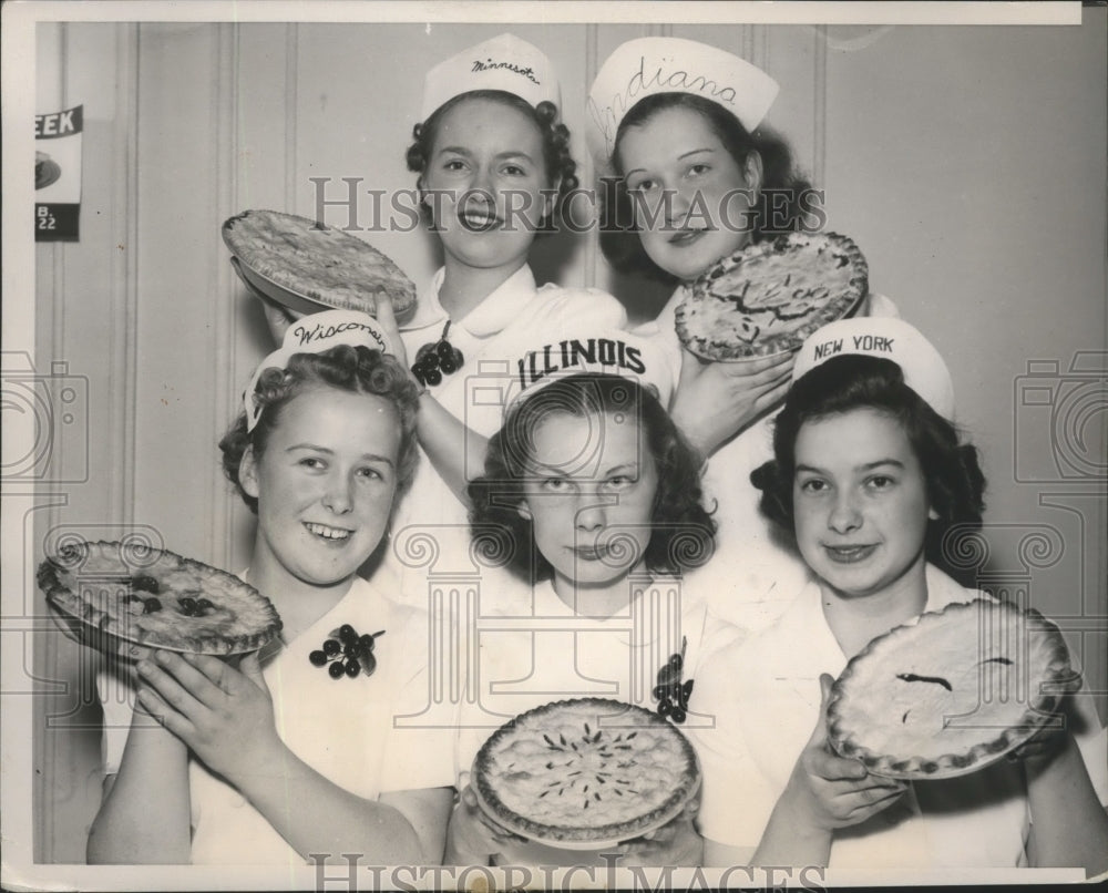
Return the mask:
[[[929,565],[927,610],[979,597]],[[803,647],[798,647],[802,643]],[[696,730],[704,769],[701,833],[756,848],[820,707],[821,673],[838,677],[847,657],[828,627],[811,583],[758,635],[712,656],[699,692],[721,718]],[[1088,697],[1075,698],[1074,729],[1101,802],[1108,802],[1108,735]],[[913,782],[896,803],[834,832],[831,868],[1014,868],[1026,864],[1029,830],[1023,767],[1001,760],[961,778]]]

